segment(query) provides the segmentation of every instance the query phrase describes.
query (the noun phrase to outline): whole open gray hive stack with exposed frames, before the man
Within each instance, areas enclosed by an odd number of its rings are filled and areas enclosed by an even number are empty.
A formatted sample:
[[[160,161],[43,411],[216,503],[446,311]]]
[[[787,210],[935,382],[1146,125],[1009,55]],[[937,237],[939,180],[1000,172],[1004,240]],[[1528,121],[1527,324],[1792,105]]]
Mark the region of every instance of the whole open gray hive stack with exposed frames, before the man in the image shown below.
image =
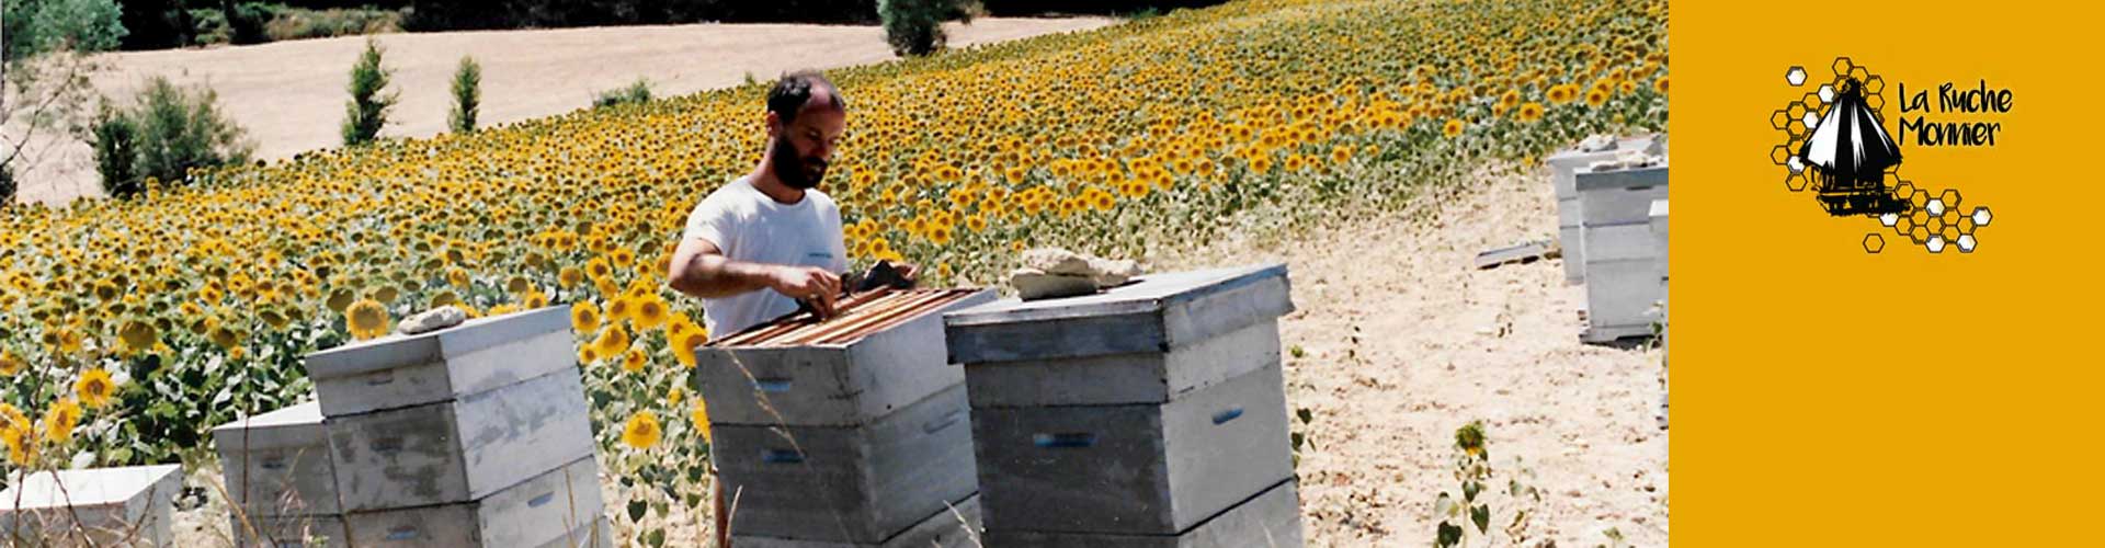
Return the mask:
[[[964,371],[945,310],[991,291],[876,291],[695,352],[735,546],[966,546],[977,537]]]

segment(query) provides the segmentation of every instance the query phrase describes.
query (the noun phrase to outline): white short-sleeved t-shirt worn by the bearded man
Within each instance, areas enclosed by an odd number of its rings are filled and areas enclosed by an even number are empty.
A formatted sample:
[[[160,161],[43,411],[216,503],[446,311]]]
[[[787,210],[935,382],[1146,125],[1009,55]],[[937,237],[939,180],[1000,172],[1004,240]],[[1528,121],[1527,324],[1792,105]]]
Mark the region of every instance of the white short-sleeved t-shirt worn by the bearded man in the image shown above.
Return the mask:
[[[695,213],[686,215],[684,238],[709,240],[733,261],[817,266],[836,274],[848,270],[840,207],[819,190],[806,190],[804,200],[783,204],[754,188],[751,177],[739,177],[695,204]],[[711,339],[789,312],[796,312],[796,299],[773,289],[701,299]]]

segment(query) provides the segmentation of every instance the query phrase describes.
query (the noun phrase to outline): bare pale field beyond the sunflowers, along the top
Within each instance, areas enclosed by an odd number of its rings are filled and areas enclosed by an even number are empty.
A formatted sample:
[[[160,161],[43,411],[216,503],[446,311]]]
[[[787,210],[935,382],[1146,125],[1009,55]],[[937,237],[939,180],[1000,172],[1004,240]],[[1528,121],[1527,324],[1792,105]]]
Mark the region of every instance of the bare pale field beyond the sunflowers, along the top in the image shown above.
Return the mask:
[[[951,46],[989,44],[1111,25],[1107,17],[987,17],[947,23]],[[501,124],[592,105],[594,95],[650,78],[657,95],[735,86],[747,74],[766,80],[802,67],[846,67],[895,59],[871,25],[644,25],[518,32],[383,34],[385,65],[402,95],[387,137],[427,137],[446,129],[448,86],[463,55],[482,63],[482,120]],[[364,38],[293,40],[255,46],[139,51],[101,55],[107,70],[93,84],[107,97],[133,97],[152,76],[210,84],[219,103],[248,129],[261,158],[341,143],[343,101]],[[97,196],[88,145],[36,139],[44,160],[17,173],[21,200],[65,202]]]

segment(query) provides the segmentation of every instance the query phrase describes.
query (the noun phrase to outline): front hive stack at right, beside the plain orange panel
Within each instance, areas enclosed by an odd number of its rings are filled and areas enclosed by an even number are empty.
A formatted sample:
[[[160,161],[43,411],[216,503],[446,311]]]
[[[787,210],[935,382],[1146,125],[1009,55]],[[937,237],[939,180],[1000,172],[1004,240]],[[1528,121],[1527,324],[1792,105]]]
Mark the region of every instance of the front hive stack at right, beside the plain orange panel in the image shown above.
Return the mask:
[[[1577,173],[1585,247],[1585,341],[1652,335],[1663,297],[1652,200],[1667,198],[1667,162],[1604,162]]]

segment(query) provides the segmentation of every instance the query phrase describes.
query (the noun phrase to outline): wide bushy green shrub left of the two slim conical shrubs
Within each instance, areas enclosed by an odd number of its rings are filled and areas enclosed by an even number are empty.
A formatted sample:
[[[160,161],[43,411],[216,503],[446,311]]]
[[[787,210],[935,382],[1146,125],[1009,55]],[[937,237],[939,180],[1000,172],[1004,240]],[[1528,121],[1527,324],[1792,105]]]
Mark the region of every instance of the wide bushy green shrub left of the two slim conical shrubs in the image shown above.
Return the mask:
[[[154,78],[131,110],[97,110],[91,129],[95,169],[103,192],[124,198],[145,190],[145,181],[183,181],[192,169],[246,162],[250,145],[242,129],[219,112],[213,89],[181,89]]]

